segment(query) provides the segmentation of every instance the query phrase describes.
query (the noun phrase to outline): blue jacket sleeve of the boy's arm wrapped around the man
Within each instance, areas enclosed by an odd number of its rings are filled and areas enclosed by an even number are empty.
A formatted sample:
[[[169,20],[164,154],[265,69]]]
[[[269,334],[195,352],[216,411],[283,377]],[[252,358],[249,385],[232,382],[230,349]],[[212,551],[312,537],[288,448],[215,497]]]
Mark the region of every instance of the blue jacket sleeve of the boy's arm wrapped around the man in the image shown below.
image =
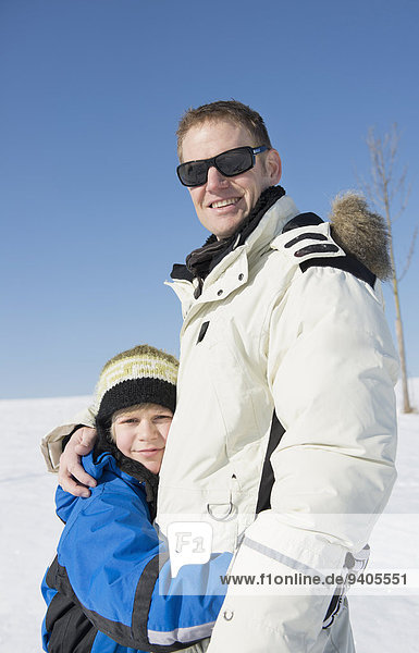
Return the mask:
[[[59,543],[54,587],[125,646],[173,651],[210,636],[231,554],[182,567],[173,579],[137,492],[115,479],[78,502]]]

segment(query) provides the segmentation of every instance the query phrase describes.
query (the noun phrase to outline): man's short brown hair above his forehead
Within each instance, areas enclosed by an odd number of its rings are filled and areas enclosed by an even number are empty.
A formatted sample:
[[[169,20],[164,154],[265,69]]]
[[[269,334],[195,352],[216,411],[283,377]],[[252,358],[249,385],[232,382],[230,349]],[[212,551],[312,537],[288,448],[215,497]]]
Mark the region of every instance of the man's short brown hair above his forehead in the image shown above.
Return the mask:
[[[210,104],[202,104],[197,109],[188,109],[181,118],[176,132],[177,156],[181,161],[183,139],[190,127],[217,120],[229,120],[246,127],[255,138],[255,147],[259,145],[266,145],[268,148],[272,147],[263,119],[257,111],[236,100],[218,100]]]

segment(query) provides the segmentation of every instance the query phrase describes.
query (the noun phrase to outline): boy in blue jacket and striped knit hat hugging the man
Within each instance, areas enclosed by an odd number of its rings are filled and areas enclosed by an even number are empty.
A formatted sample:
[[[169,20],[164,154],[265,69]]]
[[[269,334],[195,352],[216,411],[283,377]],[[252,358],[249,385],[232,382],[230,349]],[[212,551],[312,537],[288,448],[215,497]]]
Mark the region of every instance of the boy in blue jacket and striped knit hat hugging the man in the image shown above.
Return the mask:
[[[159,575],[165,549],[152,527],[177,367],[173,356],[143,345],[109,360],[100,374],[98,442],[84,458],[97,486],[88,498],[57,490],[65,527],[42,581],[49,653],[174,651],[211,633],[231,555],[183,567],[176,579],[165,562]]]

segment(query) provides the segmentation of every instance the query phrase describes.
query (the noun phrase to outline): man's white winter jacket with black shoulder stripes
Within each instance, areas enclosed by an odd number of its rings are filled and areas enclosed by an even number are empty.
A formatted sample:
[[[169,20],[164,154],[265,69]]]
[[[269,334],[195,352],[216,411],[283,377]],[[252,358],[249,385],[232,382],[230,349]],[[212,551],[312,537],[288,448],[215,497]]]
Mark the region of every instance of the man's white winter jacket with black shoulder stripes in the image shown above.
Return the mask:
[[[334,267],[350,269],[329,223],[282,233],[297,213],[278,200],[198,299],[189,281],[171,284],[184,325],[158,522],[208,521],[214,551],[239,544],[231,574],[256,579],[342,572],[395,480],[397,360],[380,297]],[[274,412],[285,432],[255,518]],[[230,587],[209,652],[323,651],[335,588],[300,590]]]

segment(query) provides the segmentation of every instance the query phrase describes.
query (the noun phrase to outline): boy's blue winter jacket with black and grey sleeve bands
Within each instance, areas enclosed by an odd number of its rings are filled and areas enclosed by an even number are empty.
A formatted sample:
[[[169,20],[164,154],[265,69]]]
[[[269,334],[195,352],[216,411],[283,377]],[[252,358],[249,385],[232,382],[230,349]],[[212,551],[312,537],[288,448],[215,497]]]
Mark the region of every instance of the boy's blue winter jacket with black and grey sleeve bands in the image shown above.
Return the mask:
[[[163,653],[210,636],[231,554],[184,566],[172,578],[144,482],[122,471],[110,453],[96,461],[90,454],[84,466],[98,481],[88,498],[57,490],[65,527],[42,581],[44,650]]]

